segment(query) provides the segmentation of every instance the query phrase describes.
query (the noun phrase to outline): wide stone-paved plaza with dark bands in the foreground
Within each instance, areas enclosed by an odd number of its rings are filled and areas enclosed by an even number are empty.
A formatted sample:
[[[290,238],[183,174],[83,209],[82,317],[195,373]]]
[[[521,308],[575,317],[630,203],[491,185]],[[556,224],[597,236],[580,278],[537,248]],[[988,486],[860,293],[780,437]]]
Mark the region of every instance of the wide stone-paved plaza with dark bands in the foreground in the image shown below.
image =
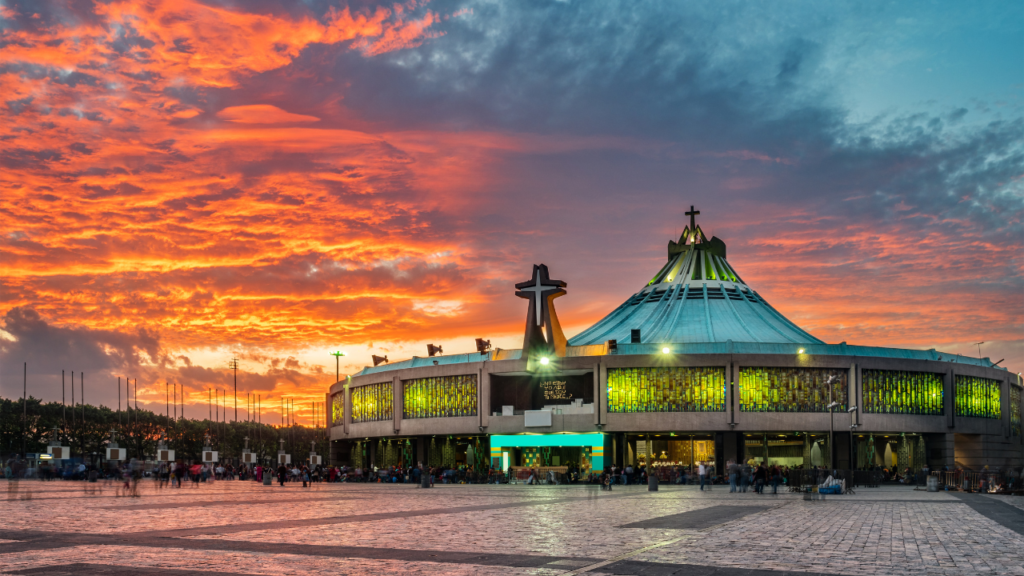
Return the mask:
[[[1024,498],[902,487],[0,488],[3,574],[1024,575]]]

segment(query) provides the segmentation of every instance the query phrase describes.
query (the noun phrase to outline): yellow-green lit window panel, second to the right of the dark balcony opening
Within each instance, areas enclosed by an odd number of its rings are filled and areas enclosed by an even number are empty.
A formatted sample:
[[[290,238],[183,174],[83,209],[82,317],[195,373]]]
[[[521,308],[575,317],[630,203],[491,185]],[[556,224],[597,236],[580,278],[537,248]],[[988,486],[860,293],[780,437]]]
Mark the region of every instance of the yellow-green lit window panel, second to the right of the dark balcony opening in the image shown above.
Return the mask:
[[[743,368],[739,371],[741,412],[827,412],[829,376],[836,412],[846,410],[846,370],[829,368]]]

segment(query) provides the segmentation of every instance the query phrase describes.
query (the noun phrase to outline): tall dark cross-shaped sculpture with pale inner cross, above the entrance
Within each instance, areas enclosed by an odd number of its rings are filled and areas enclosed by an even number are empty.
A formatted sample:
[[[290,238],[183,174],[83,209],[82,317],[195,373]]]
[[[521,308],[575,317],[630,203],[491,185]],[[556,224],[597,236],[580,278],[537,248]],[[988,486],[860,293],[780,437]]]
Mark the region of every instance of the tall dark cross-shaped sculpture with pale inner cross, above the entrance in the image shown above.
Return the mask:
[[[522,339],[527,369],[542,357],[565,356],[565,335],[554,304],[555,298],[565,295],[564,288],[565,283],[561,280],[551,280],[545,264],[534,264],[532,279],[515,285],[515,295],[529,300],[526,333]]]

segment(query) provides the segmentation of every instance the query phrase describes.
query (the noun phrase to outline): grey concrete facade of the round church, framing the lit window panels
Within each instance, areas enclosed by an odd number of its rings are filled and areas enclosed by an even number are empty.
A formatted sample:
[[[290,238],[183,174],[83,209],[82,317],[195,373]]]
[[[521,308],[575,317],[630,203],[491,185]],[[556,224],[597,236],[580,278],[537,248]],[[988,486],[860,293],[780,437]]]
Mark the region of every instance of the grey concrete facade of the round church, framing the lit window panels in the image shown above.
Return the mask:
[[[824,433],[829,425],[836,434],[836,464],[850,464],[850,442],[868,435],[922,435],[928,447],[928,462],[933,468],[966,465],[994,468],[1024,464],[1024,441],[1011,435],[1010,386],[1017,377],[998,368],[954,362],[873,358],[839,355],[709,354],[709,355],[623,355],[581,356],[556,359],[553,375],[558,373],[593,374],[594,411],[591,414],[553,414],[551,426],[527,427],[524,416],[495,415],[490,410],[492,375],[526,374],[525,360],[486,360],[437,366],[420,366],[358,375],[336,382],[328,397],[345,395],[344,419],[331,422],[331,440],[339,443],[381,438],[430,438],[435,436],[487,436],[494,434],[594,433],[608,435],[606,463],[620,461],[627,453],[627,435],[656,433],[712,435],[718,458],[736,457],[742,435],[753,433]],[[726,403],[721,412],[645,412],[609,413],[607,371],[609,368],[645,367],[722,367],[725,370]],[[758,368],[830,368],[849,375],[848,413],[837,412],[743,412],[737,400],[739,372],[743,367]],[[893,370],[942,374],[944,406],[941,415],[872,414],[862,407],[864,370]],[[451,418],[402,418],[402,381],[415,378],[468,375],[476,376],[477,405],[473,416]],[[999,418],[965,417],[955,414],[954,382],[958,375],[998,380],[1001,386]],[[392,419],[375,422],[351,422],[351,390],[362,385],[390,382],[394,390]],[[330,404],[330,401],[329,401]],[[855,426],[855,427],[853,427]],[[422,449],[418,449],[421,453]],[[342,452],[339,452],[339,456]]]

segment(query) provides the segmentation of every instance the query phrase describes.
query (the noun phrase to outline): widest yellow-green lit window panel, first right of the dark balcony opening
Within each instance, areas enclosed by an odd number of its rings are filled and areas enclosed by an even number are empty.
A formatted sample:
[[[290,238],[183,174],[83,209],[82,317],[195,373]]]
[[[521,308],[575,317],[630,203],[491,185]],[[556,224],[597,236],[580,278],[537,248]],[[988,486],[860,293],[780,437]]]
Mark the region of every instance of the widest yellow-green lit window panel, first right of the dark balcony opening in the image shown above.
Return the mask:
[[[725,368],[611,368],[608,412],[724,412]]]

